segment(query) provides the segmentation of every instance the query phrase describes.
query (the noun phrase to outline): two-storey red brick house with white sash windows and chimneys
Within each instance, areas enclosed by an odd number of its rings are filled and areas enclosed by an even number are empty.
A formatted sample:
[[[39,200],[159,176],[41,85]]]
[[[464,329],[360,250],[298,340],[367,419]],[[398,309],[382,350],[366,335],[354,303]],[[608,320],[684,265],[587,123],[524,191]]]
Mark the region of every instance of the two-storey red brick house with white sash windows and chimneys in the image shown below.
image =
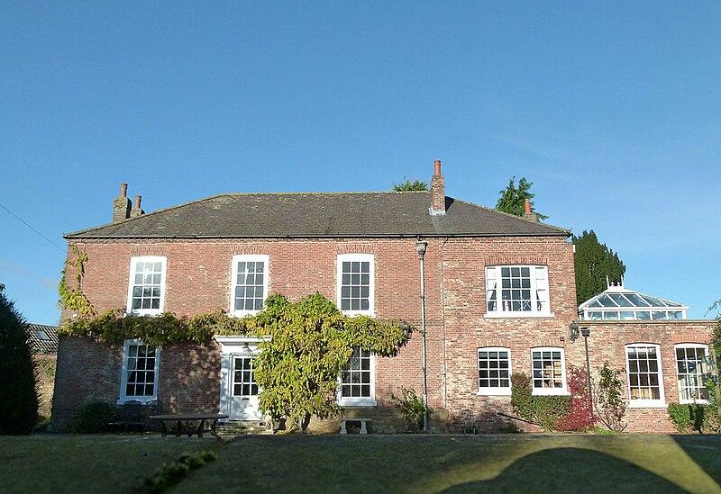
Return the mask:
[[[506,427],[497,412],[512,413],[511,372],[535,369],[535,393],[563,394],[567,366],[586,362],[583,339],[570,338],[578,319],[570,231],[538,222],[530,210],[517,218],[446,196],[438,161],[430,192],[227,193],[149,214],[139,196],[131,209],[123,185],[113,223],[66,238],[87,253],[82,289],[99,312],[192,316],[221,308],[242,316],[260,310],[269,293],[297,301],[320,292],[346,313],[416,327],[422,323],[416,242],[427,242],[427,385],[438,412],[435,431],[469,422],[484,431]],[[625,368],[634,345],[658,350],[660,370],[643,379],[661,380],[662,398],[643,391],[649,400],[634,400],[628,430],[671,430],[660,407],[679,400],[674,346],[706,345],[711,321],[582,323],[591,331],[594,368],[604,361]],[[399,430],[389,399],[400,385],[420,394],[421,341],[415,333],[394,357],[356,355],[350,381],[339,387],[346,414],[375,418],[377,431]],[[170,410],[260,420],[250,372],[257,345],[248,337],[215,337],[205,346],[156,349],[62,337],[52,426],[66,427],[89,400],[161,400]],[[333,427],[337,421],[311,428]]]

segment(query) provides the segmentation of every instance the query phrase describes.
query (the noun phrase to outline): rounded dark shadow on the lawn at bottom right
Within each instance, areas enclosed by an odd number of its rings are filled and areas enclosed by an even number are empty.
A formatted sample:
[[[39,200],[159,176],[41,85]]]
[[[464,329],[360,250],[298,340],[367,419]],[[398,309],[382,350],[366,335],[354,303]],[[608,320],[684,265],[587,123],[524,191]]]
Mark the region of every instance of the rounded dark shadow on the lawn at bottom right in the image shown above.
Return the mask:
[[[594,465],[594,471],[589,471]],[[443,490],[458,492],[686,492],[609,454],[581,448],[553,448],[527,454],[489,481],[471,481]]]

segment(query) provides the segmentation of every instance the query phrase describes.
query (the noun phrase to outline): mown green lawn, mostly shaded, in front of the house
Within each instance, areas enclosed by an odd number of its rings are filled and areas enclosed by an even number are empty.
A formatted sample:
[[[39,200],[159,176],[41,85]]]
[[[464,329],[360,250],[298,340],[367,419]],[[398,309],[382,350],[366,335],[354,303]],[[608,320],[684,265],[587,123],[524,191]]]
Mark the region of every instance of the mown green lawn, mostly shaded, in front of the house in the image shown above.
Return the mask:
[[[173,492],[721,492],[721,436],[0,437],[0,479],[5,492],[138,492],[206,448],[220,459]]]

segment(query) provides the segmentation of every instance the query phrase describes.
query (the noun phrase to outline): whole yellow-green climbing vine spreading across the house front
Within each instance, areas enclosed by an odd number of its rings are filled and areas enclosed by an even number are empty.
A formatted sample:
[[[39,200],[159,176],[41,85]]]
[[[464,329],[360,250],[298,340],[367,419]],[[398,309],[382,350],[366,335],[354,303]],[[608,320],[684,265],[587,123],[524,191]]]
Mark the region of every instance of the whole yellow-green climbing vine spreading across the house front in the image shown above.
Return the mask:
[[[108,344],[139,338],[152,346],[203,345],[214,335],[260,337],[262,351],[254,363],[255,381],[263,390],[260,409],[285,422],[287,430],[305,430],[312,416],[327,418],[341,411],[335,400],[338,379],[354,347],[390,356],[405,343],[399,321],[344,316],[319,293],[297,303],[271,295],[258,315],[242,319],[221,311],[194,318],[171,313],[148,318],[110,310],[70,321],[59,334]]]

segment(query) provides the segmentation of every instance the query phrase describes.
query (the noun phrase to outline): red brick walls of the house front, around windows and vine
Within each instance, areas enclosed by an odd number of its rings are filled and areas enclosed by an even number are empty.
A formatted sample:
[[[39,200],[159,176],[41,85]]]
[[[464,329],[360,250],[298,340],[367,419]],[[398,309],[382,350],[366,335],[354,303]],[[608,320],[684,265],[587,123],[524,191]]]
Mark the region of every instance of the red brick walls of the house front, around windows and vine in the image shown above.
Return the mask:
[[[511,412],[510,399],[479,397],[477,348],[511,348],[514,372],[530,373],[530,348],[560,346],[567,364],[585,365],[583,341],[570,343],[569,326],[576,316],[572,247],[563,238],[432,238],[424,258],[428,390],[430,405],[443,410],[452,430],[474,420],[482,430],[505,427],[497,411]],[[78,242],[88,261],[83,291],[99,312],[127,306],[130,258],[167,256],[164,310],[178,316],[217,309],[229,310],[231,259],[236,254],[269,255],[269,293],[284,293],[291,301],[320,292],[335,301],[336,257],[345,253],[375,255],[375,309],[379,319],[404,319],[421,324],[419,260],[415,238],[406,239],[275,239],[275,240],[87,240]],[[552,317],[487,319],[485,266],[494,264],[548,265]],[[68,269],[68,280],[72,279]],[[71,317],[67,311],[63,317]],[[710,324],[682,321],[598,324],[591,327],[592,366],[609,360],[625,366],[624,345],[663,341],[664,381],[673,389],[672,343],[689,331],[695,337],[710,333]],[[603,337],[598,336],[602,334]],[[651,338],[651,339],[643,339]],[[669,341],[671,341],[669,340]],[[61,346],[56,383],[56,408],[70,410],[87,397],[117,400],[120,352],[115,347],[78,343]],[[597,343],[598,342],[598,343]],[[102,351],[96,351],[103,348]],[[121,348],[122,351],[122,348]],[[664,353],[665,352],[665,353]],[[667,355],[668,354],[668,355]],[[67,356],[66,356],[67,355]],[[68,362],[62,362],[66,360]],[[376,363],[376,399],[387,406],[391,392],[403,384],[420,395],[421,335],[416,332],[393,358]],[[61,367],[62,364],[62,367]],[[217,408],[219,395],[218,348],[176,346],[161,355],[160,396],[171,408]],[[670,366],[670,367],[669,367]],[[666,371],[669,367],[669,372]],[[87,373],[96,373],[91,381]],[[78,398],[59,400],[57,391]],[[667,401],[673,391],[667,392]],[[58,403],[58,400],[60,403]],[[65,412],[67,414],[67,412]],[[631,410],[634,430],[668,427],[664,410]],[[661,424],[661,425],[660,425]]]

